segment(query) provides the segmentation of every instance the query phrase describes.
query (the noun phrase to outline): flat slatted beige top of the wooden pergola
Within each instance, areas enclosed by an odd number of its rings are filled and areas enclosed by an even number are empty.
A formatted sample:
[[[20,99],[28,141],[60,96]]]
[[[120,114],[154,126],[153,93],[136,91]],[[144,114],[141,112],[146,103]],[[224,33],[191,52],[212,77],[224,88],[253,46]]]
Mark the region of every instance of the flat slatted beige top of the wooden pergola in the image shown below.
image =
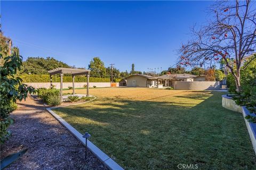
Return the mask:
[[[48,73],[50,73],[50,75],[59,74],[59,73],[72,74],[72,75],[83,75],[83,74],[90,74],[90,70],[58,67],[56,69],[49,70]]]

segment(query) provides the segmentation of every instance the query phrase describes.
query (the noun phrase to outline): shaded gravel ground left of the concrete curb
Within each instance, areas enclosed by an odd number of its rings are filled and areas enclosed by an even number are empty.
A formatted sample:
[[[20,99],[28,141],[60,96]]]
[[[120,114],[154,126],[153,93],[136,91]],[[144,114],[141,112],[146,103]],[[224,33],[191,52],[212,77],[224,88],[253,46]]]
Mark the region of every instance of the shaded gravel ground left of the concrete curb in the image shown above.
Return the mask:
[[[28,97],[11,114],[12,137],[1,145],[1,159],[14,152],[28,151],[6,169],[107,169],[91,152],[55,120],[40,100]]]

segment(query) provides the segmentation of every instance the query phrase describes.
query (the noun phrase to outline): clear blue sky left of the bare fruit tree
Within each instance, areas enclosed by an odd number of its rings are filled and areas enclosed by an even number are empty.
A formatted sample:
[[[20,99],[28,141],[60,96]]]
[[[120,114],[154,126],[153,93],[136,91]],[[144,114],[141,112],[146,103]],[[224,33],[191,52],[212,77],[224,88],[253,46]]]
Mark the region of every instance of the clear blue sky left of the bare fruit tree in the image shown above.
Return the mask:
[[[173,65],[212,1],[1,1],[4,35],[20,54],[88,67],[95,56],[121,71]],[[157,70],[157,69],[156,69]],[[159,69],[160,71],[160,69]]]

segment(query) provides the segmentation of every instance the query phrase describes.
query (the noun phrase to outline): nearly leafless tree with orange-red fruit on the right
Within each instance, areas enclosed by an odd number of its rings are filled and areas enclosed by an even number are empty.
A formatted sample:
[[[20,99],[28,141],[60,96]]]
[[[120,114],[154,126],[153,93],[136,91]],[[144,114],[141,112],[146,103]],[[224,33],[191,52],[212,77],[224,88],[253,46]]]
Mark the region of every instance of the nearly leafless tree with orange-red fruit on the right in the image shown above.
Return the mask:
[[[255,2],[218,1],[210,8],[210,16],[209,24],[193,28],[193,38],[180,48],[178,65],[212,65],[223,58],[239,92],[242,60],[256,47]],[[230,64],[228,58],[233,57],[234,64]]]

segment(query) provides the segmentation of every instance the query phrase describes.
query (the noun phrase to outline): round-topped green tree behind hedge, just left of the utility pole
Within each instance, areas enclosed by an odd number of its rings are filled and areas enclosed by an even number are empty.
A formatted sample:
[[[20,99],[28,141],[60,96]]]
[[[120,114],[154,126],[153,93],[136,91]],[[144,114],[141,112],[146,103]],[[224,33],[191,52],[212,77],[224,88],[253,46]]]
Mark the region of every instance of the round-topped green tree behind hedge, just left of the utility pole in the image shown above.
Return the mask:
[[[94,57],[89,64],[90,76],[95,78],[106,78],[106,67],[99,57]]]

